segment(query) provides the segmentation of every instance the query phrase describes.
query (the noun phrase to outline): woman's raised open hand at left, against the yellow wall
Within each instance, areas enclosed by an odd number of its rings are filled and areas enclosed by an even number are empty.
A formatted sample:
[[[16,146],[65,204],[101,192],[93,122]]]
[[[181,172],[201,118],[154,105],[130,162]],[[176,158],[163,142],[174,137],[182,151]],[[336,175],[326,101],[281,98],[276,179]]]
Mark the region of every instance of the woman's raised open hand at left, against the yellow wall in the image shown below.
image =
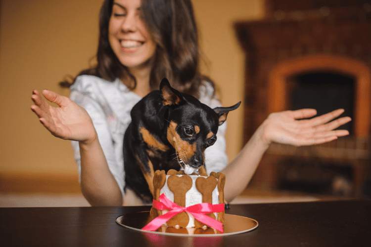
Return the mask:
[[[31,99],[35,105],[31,106],[31,110],[52,135],[84,143],[91,143],[96,139],[92,119],[84,108],[55,92],[45,89],[42,94],[59,107],[50,106],[42,95],[34,90]]]

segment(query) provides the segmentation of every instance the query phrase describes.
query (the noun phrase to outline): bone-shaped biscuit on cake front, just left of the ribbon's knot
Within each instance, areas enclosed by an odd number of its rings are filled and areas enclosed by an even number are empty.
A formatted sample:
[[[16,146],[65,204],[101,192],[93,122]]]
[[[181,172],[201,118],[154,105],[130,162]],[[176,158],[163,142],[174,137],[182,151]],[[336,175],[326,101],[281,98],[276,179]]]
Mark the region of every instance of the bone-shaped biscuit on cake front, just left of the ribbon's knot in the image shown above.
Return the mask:
[[[181,177],[171,175],[168,177],[167,184],[174,193],[174,203],[178,206],[185,206],[185,193],[192,187],[192,178],[187,175]],[[180,227],[186,227],[188,222],[189,217],[186,212],[181,212],[167,221],[169,226],[179,225]]]

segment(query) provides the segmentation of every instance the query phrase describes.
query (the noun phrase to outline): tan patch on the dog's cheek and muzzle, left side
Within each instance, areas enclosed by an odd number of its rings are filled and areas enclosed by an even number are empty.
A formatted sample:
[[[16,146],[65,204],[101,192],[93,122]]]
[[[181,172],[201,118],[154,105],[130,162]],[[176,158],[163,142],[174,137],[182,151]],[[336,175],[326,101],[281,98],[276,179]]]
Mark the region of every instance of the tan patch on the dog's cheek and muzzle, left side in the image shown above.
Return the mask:
[[[167,139],[170,144],[175,148],[179,159],[181,159],[185,164],[190,164],[192,156],[196,153],[196,144],[189,144],[187,141],[182,140],[175,128],[178,124],[173,121],[170,122]]]

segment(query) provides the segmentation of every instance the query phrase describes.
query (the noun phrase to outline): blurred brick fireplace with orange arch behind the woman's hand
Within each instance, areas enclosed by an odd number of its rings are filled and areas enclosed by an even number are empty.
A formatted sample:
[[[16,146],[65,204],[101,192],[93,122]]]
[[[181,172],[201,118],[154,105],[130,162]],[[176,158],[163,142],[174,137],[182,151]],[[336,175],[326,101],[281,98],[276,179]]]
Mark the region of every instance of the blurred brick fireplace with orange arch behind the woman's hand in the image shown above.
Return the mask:
[[[344,108],[352,122],[330,143],[272,144],[249,186],[360,196],[370,173],[371,4],[267,0],[266,9],[234,25],[246,53],[244,141],[278,111]]]

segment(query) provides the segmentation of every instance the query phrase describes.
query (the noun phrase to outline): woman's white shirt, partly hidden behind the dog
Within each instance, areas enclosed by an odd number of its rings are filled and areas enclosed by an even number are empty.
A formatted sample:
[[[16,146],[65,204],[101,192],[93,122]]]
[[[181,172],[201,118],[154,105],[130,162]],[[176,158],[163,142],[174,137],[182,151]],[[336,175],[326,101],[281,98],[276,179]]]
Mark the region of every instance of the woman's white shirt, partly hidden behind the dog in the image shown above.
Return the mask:
[[[83,75],[77,77],[71,86],[70,98],[84,107],[92,118],[109,170],[124,196],[123,138],[125,130],[131,122],[130,111],[141,97],[130,91],[119,79],[109,82],[95,76]],[[213,87],[207,82],[200,87],[199,100],[211,108],[221,106],[220,101],[213,97]],[[223,170],[228,163],[226,128],[226,123],[219,126],[217,141],[205,150],[205,166],[209,174],[211,171]],[[80,177],[79,143],[72,141],[72,147]]]

